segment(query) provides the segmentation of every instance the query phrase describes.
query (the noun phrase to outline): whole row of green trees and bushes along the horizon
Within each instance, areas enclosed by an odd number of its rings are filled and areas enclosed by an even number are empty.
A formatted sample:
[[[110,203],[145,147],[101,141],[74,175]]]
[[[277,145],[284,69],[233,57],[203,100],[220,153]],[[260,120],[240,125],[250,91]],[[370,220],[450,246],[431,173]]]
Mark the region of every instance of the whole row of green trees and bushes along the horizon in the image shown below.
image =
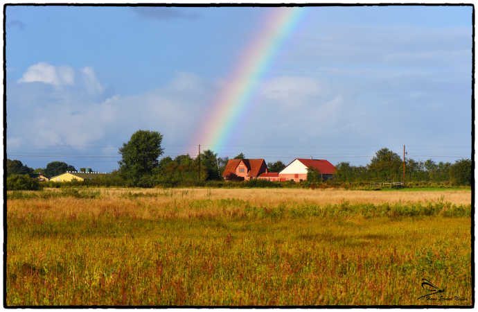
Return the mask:
[[[163,187],[204,185],[205,182],[222,180],[222,173],[229,162],[229,157],[218,157],[212,150],[204,150],[200,155],[179,155],[175,158],[166,156],[160,159],[164,150],[161,148],[163,136],[159,132],[139,130],[129,141],[119,148],[121,161],[119,168],[108,175],[95,177],[98,185],[118,185],[126,187]],[[240,153],[233,159],[243,159]],[[200,168],[200,169],[199,169]],[[285,168],[281,161],[267,163],[269,172],[279,172]],[[74,166],[64,162],[50,162],[46,168],[29,168],[19,160],[7,159],[7,177],[25,175],[35,177],[39,174],[46,177],[60,175],[66,171],[76,171]],[[80,168],[85,171],[85,168]],[[349,162],[339,162],[336,172],[328,183],[344,182],[400,182],[402,181],[403,161],[400,156],[388,148],[375,153],[371,162],[365,166],[353,166]],[[18,177],[15,177],[18,180]],[[311,172],[310,181],[323,182],[320,173]],[[459,159],[454,164],[432,159],[417,162],[406,159],[406,182],[449,182],[453,185],[470,185],[472,181],[472,162],[470,159]],[[266,183],[267,184],[267,183]]]

